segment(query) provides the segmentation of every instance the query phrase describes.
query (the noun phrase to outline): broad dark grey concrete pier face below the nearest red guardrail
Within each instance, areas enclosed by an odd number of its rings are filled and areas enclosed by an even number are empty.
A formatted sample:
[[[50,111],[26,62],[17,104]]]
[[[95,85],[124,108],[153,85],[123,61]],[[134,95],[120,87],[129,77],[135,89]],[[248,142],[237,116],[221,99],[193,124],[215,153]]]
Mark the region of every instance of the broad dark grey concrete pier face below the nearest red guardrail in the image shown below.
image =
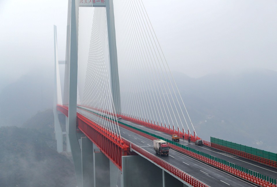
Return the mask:
[[[121,187],[163,186],[162,169],[141,156],[122,156]]]

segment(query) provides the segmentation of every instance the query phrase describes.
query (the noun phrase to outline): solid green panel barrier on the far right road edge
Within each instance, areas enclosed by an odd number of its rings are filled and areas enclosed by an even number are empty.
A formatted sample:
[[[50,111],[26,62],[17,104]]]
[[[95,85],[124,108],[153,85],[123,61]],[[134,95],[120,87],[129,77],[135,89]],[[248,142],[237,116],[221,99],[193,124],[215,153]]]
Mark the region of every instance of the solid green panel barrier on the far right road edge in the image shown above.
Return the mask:
[[[214,138],[211,137],[211,143],[215,143],[218,144],[220,146],[225,146],[228,148],[232,148],[238,151],[242,151],[242,152],[246,152],[249,154],[253,154],[255,156],[259,156],[262,158],[266,158],[269,160],[273,160],[277,162],[277,154],[276,153],[272,153],[272,152],[268,152],[268,151],[264,151],[264,150],[260,150],[260,149],[256,149],[256,148],[252,148],[252,147],[248,147],[248,146],[244,146],[238,143],[233,143],[231,141],[226,141],[226,140],[222,140],[222,139],[218,139],[218,138]]]

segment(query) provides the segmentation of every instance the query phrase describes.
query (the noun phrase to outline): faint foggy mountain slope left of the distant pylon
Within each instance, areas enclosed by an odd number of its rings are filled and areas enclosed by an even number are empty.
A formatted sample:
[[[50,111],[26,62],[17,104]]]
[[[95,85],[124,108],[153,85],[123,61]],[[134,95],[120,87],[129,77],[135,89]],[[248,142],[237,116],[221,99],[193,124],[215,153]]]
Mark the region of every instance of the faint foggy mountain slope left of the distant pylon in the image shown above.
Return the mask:
[[[20,126],[38,111],[53,108],[53,74],[32,72],[0,91],[0,126]]]

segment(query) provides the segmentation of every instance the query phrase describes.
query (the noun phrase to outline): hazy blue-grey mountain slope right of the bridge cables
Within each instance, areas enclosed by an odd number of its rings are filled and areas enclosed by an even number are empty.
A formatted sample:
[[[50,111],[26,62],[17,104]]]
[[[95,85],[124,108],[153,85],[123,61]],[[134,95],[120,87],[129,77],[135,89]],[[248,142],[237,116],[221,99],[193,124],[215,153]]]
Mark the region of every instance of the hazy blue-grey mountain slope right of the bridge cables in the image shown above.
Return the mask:
[[[277,72],[189,78],[174,73],[197,134],[277,152]]]

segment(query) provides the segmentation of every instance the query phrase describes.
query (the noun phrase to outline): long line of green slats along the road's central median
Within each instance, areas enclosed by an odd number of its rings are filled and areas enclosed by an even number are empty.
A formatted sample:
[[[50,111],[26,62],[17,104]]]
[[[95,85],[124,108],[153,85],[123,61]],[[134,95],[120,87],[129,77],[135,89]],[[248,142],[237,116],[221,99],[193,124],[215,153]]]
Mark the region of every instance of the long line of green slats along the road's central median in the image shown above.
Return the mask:
[[[106,117],[106,116],[104,116],[104,115],[102,115],[102,114],[99,114],[99,113],[97,113],[97,112],[91,111],[91,110],[86,109],[86,108],[83,108],[83,107],[78,107],[78,108],[82,108],[82,109],[84,109],[84,110],[86,110],[86,111],[88,111],[88,112],[91,112],[91,113],[93,113],[93,114],[97,114],[97,115],[99,115],[99,116]],[[113,121],[114,121],[114,119],[112,119],[112,118],[109,118],[109,117],[106,117],[106,118],[109,119],[109,120],[113,120]],[[166,142],[168,142],[168,143],[171,143],[171,144],[173,144],[173,145],[175,145],[175,146],[181,147],[181,148],[186,149],[186,150],[188,150],[188,151],[191,151],[191,152],[193,152],[193,153],[196,153],[196,154],[199,154],[199,155],[204,156],[204,157],[206,157],[206,158],[212,159],[212,160],[214,160],[214,161],[216,161],[216,162],[219,162],[219,163],[222,163],[222,164],[224,164],[224,165],[230,166],[230,167],[232,167],[232,168],[234,168],[234,169],[238,169],[239,171],[243,171],[243,172],[248,173],[248,174],[250,174],[250,175],[253,175],[253,176],[255,176],[255,177],[259,177],[260,179],[266,180],[266,178],[267,178],[267,181],[271,182],[272,184],[276,184],[276,179],[272,179],[272,178],[266,177],[265,175],[261,175],[260,173],[257,173],[257,172],[255,172],[255,171],[252,171],[252,170],[250,170],[250,169],[246,169],[246,168],[241,167],[241,166],[239,166],[239,165],[230,163],[230,162],[228,162],[228,161],[226,161],[226,160],[222,160],[222,159],[220,159],[220,158],[217,158],[217,157],[212,156],[212,155],[209,155],[209,154],[207,154],[207,153],[204,153],[204,152],[198,151],[198,150],[196,150],[196,149],[187,147],[187,146],[182,145],[182,144],[180,144],[180,143],[177,143],[177,142],[175,142],[175,141],[171,141],[171,140],[166,139],[166,138],[164,138],[164,137],[160,137],[160,136],[158,136],[158,135],[156,135],[156,134],[149,133],[149,132],[147,132],[147,131],[144,131],[144,130],[142,130],[142,129],[136,128],[136,127],[131,126],[131,125],[128,125],[128,124],[126,124],[126,123],[119,122],[119,121],[118,121],[118,123],[123,124],[123,125],[125,125],[125,126],[128,126],[128,127],[132,128],[132,129],[135,129],[135,130],[140,131],[140,132],[142,132],[142,133],[145,133],[145,134],[147,134],[147,135],[153,136],[153,137],[155,137],[155,138],[157,138],[157,139],[162,139],[162,140],[164,140],[164,141],[166,141]],[[218,140],[223,144],[224,140],[220,140],[220,139],[218,139]],[[211,142],[212,142],[212,137],[211,137]],[[214,143],[214,142],[212,142],[212,143]],[[233,145],[236,146],[236,144],[233,144]]]

